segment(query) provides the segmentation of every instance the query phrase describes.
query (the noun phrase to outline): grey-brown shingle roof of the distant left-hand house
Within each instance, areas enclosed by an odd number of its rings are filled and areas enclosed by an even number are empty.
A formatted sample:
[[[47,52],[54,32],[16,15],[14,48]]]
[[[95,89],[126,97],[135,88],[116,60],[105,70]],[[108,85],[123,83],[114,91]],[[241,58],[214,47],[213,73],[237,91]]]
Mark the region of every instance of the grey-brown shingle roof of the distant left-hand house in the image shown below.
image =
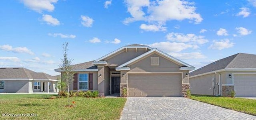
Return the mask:
[[[26,68],[0,68],[0,79],[51,79],[56,80],[55,76],[51,76],[42,72],[34,72]]]

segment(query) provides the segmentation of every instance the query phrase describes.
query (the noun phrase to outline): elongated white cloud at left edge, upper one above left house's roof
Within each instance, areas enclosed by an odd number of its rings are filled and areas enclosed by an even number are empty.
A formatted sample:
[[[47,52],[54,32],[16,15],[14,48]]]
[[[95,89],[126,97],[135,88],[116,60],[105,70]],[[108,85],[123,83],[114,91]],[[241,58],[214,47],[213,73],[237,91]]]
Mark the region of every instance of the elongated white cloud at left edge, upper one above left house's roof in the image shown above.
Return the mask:
[[[31,50],[29,50],[26,47],[12,48],[12,46],[10,46],[8,44],[0,46],[0,50],[16,52],[16,53],[27,53],[27,54],[31,54],[31,55],[34,54]]]

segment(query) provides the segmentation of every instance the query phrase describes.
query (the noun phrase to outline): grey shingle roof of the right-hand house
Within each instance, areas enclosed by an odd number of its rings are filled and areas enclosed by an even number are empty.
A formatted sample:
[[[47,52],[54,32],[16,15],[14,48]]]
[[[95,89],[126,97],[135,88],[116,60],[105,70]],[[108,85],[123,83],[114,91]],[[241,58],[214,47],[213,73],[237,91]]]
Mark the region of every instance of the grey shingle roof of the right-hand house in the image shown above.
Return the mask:
[[[212,62],[190,73],[190,76],[230,68],[256,68],[256,55],[238,53]]]

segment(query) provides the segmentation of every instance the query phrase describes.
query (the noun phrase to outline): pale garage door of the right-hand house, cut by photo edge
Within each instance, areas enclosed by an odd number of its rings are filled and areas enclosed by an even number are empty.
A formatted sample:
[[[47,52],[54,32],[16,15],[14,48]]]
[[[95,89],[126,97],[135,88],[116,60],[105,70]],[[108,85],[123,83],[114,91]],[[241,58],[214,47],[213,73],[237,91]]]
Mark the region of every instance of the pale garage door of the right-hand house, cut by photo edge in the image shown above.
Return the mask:
[[[236,97],[256,97],[256,74],[234,74]]]

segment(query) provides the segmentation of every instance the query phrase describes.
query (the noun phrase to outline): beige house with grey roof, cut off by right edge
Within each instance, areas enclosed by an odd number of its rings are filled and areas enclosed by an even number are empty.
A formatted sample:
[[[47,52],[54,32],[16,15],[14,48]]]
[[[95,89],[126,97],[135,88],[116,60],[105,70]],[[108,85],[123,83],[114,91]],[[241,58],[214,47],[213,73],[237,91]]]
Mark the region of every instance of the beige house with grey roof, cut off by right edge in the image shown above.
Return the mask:
[[[190,73],[192,94],[256,97],[256,55],[238,53]]]

